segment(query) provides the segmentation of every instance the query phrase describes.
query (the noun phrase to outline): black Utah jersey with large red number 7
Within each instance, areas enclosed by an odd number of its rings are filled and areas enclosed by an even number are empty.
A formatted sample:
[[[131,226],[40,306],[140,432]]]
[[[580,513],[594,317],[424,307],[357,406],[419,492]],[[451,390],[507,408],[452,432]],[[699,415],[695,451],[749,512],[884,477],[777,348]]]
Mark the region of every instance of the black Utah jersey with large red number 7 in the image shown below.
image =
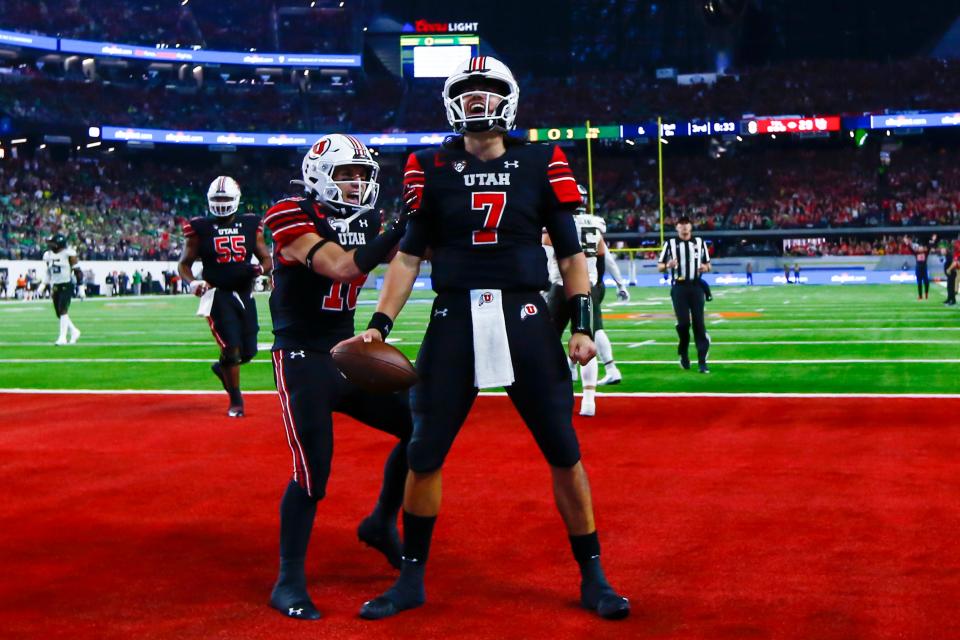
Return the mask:
[[[580,204],[566,156],[540,144],[511,144],[489,161],[456,147],[417,151],[404,187],[419,195],[400,250],[432,252],[438,292],[548,288],[545,220]]]

